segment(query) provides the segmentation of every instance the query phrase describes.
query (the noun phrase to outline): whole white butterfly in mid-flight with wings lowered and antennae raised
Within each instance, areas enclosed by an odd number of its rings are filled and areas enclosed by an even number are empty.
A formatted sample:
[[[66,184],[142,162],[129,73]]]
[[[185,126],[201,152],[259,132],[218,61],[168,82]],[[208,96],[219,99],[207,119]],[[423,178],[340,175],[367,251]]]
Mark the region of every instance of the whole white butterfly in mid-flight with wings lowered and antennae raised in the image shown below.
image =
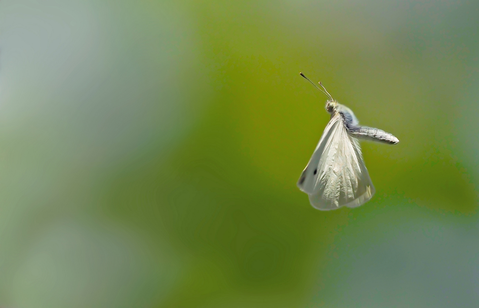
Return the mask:
[[[321,83],[319,85],[322,87]],[[357,138],[392,144],[399,140],[377,128],[359,126],[353,111],[332,99],[326,88],[322,88],[324,91],[318,89],[331,99],[326,102],[331,120],[297,186],[308,194],[309,202],[316,209],[355,208],[369,201],[375,193]]]

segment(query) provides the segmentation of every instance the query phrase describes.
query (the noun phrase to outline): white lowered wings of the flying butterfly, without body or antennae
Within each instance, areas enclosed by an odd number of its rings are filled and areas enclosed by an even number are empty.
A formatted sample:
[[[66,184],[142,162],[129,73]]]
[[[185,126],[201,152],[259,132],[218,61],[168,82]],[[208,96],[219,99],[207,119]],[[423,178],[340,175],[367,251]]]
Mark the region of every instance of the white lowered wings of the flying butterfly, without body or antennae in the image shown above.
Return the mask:
[[[316,209],[360,206],[375,193],[359,142],[347,133],[337,113],[326,126],[298,187]]]

